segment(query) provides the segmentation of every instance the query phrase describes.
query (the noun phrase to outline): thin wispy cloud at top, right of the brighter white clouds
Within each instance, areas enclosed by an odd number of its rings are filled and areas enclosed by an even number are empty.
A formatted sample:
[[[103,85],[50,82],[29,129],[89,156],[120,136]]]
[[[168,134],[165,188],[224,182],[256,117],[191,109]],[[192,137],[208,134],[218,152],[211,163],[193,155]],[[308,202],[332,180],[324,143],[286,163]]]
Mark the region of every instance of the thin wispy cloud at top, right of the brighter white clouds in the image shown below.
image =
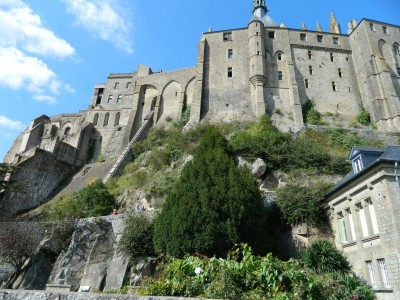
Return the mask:
[[[63,0],[77,23],[95,36],[132,53],[132,23],[116,0]]]

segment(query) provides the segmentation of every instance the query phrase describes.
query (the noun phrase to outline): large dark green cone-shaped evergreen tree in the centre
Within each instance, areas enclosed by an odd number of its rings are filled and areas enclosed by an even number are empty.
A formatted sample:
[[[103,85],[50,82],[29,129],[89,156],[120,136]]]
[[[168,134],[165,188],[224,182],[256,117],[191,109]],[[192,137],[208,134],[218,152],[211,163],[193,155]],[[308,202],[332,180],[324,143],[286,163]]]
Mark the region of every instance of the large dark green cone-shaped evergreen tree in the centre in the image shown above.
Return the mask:
[[[238,168],[227,140],[210,126],[155,220],[156,249],[223,256],[236,243],[265,247],[266,210],[254,177]]]

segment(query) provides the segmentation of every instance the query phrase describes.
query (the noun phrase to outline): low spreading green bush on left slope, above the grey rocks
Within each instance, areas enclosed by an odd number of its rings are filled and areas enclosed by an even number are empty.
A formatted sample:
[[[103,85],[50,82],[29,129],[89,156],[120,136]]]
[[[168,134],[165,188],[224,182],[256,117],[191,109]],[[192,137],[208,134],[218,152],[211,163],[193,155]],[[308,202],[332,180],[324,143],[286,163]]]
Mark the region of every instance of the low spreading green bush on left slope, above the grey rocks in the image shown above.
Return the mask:
[[[49,206],[49,219],[59,221],[108,215],[118,207],[118,204],[103,182],[97,180],[79,192],[64,196]]]

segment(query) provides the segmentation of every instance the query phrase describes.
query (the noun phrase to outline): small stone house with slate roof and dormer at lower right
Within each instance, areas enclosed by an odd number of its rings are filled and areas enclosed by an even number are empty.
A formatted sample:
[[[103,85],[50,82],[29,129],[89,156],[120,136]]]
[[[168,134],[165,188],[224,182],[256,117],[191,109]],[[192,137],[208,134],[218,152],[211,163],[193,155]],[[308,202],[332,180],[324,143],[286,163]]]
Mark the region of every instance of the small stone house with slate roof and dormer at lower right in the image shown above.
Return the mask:
[[[354,147],[327,195],[336,246],[379,299],[400,299],[400,146]]]

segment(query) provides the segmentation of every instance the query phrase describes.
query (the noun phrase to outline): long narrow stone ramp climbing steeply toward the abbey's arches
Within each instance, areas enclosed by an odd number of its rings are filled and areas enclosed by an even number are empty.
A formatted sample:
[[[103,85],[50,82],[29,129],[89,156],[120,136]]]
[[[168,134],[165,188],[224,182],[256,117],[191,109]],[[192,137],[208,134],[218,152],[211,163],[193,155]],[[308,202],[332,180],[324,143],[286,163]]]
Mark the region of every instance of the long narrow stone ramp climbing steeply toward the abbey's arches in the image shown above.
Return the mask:
[[[104,183],[106,183],[110,178],[117,175],[121,171],[121,169],[130,161],[129,154],[131,153],[132,144],[143,138],[143,136],[147,133],[147,130],[153,124],[153,116],[154,116],[154,111],[150,112],[144,118],[144,122],[140,126],[139,130],[136,132],[135,136],[128,143],[124,151],[122,151],[121,155],[119,156],[119,158],[117,159],[111,170],[108,172],[107,176],[103,179]]]

